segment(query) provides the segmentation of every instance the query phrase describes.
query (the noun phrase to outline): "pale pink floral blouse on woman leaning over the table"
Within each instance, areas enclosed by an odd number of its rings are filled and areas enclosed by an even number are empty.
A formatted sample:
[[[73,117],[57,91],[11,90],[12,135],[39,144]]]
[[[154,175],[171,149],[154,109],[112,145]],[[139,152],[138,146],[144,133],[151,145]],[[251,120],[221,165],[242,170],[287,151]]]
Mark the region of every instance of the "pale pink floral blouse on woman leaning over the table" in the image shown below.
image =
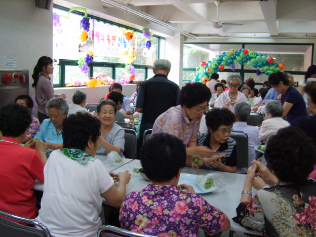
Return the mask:
[[[179,138],[184,145],[188,145],[190,141],[197,141],[199,124],[200,121],[190,121],[181,105],[178,105],[159,115],[152,134],[166,132]]]

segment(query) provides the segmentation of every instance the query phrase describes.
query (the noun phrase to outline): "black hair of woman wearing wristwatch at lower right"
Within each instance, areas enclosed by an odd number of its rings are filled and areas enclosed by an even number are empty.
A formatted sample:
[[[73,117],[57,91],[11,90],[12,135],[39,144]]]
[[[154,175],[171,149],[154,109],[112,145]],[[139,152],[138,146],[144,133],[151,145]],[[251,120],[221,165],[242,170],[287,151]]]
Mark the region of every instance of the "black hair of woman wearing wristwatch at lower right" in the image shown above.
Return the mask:
[[[300,128],[279,129],[267,143],[267,166],[283,182],[301,182],[314,170],[316,146]]]

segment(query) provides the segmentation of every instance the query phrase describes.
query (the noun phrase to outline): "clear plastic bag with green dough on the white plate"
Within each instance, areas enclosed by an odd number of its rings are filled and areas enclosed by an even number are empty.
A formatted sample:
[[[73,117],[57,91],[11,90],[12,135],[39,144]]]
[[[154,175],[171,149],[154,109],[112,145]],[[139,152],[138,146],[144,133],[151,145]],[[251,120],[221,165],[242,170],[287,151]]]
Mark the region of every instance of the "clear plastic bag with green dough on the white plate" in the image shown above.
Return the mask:
[[[210,179],[209,179],[210,178]],[[212,182],[213,180],[213,182]],[[197,186],[203,191],[221,193],[227,186],[226,179],[219,173],[209,173],[206,175],[198,175],[196,178]],[[209,188],[205,188],[209,186]]]

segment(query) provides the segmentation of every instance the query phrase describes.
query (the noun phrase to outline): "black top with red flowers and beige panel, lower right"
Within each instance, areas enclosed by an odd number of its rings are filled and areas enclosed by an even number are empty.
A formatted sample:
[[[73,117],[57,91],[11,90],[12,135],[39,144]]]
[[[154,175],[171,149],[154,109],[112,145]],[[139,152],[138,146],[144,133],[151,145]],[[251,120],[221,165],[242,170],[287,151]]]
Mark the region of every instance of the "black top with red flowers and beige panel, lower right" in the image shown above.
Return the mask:
[[[316,236],[316,180],[279,184],[241,202],[234,221],[269,237]]]

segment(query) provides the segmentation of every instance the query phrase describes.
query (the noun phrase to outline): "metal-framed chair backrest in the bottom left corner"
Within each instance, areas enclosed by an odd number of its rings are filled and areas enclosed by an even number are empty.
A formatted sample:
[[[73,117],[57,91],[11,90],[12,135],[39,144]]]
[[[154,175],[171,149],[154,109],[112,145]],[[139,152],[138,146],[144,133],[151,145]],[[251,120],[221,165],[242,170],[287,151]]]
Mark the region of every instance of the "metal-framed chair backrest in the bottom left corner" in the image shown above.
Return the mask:
[[[37,226],[37,228],[21,225],[4,219],[3,216]],[[16,216],[0,210],[0,236],[2,237],[50,237],[47,227],[38,220]]]

